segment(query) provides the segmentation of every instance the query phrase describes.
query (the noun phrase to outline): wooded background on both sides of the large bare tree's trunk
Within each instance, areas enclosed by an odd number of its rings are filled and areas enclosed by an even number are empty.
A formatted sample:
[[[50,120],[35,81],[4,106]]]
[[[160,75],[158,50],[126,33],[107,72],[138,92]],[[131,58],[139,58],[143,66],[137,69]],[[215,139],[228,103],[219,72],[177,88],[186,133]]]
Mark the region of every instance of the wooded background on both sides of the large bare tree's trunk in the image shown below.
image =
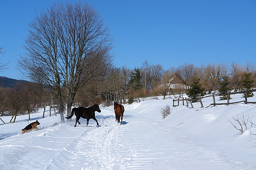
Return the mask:
[[[170,87],[175,75],[181,78],[180,82],[175,83],[185,84],[183,86],[185,88]],[[160,64],[149,65],[145,61],[140,68],[112,67],[104,75],[99,74],[94,77],[90,83],[77,91],[74,106],[87,107],[95,103],[109,106],[113,104],[113,101],[132,103],[134,98],[139,97],[188,94],[190,90],[196,89],[195,84],[200,86],[199,95],[210,94],[217,90],[224,90],[221,91],[222,93],[232,89],[235,91],[249,90],[255,87],[255,80],[255,67],[250,63],[246,66],[232,63],[230,66],[208,64],[201,67],[184,64],[164,70]],[[250,82],[249,88],[246,86],[248,81]],[[67,92],[67,89],[63,87],[62,91]],[[66,94],[63,93],[65,104],[67,103]],[[44,108],[45,112],[46,106],[59,110],[56,91],[43,84],[26,82],[18,83],[13,88],[0,88],[0,116],[12,116],[10,122],[15,122],[16,116],[22,114],[28,114],[30,119],[32,112],[38,108]],[[56,115],[58,111],[54,112]]]

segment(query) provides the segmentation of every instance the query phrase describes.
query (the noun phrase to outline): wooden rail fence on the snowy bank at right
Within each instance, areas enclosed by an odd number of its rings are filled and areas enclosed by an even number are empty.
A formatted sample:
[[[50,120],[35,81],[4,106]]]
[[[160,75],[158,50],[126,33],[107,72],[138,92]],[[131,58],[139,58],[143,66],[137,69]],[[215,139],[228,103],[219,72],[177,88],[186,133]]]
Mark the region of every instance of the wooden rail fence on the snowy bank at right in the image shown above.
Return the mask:
[[[241,103],[241,102],[244,102],[245,104],[248,104],[248,103],[256,104],[256,101],[252,102],[252,101],[247,100],[247,93],[250,93],[250,92],[256,92],[256,89],[248,90],[248,91],[241,91],[241,92],[225,93],[225,94],[215,94],[215,93],[213,93],[212,95],[208,95],[208,96],[205,96],[205,97],[213,97],[213,103],[211,103],[209,106],[211,106],[211,105],[214,105],[214,106],[216,106],[216,105],[229,105],[229,104],[235,104],[235,103]],[[234,94],[244,94],[243,96],[245,97],[245,99],[241,100],[241,101],[230,102],[230,95],[234,95]],[[217,97],[217,96],[227,96],[227,102],[226,103],[216,103],[215,97]],[[204,107],[203,102],[202,102],[202,98],[205,98],[205,97],[199,97],[198,98],[198,100],[200,101],[201,107]],[[177,105],[175,105],[175,101],[177,101]],[[185,105],[185,101],[186,101],[186,104],[187,104],[188,107],[189,107],[189,103],[190,103],[191,107],[193,108],[193,104],[192,104],[191,99],[187,98],[187,97],[173,99],[173,105],[172,106],[173,107],[179,106],[180,101],[182,101],[183,105]],[[209,107],[209,106],[207,106],[207,107]]]

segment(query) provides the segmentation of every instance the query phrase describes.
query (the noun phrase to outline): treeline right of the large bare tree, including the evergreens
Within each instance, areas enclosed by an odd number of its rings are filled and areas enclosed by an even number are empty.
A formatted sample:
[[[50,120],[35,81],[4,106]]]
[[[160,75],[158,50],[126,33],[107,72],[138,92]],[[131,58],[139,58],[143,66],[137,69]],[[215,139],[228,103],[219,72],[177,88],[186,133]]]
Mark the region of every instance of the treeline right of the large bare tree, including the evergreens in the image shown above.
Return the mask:
[[[103,89],[112,95],[111,99],[119,102],[126,102],[128,99],[128,102],[133,102],[134,98],[158,95],[165,97],[168,94],[186,93],[189,97],[196,98],[213,91],[224,94],[231,90],[250,90],[255,87],[256,70],[249,62],[245,66],[233,62],[229,66],[219,63],[200,67],[185,63],[164,70],[160,64],[149,65],[145,61],[140,68],[132,70],[126,67],[116,68],[109,77],[111,78],[104,82],[108,85],[104,85]],[[105,96],[101,95],[100,98],[105,99],[108,105],[109,101]]]

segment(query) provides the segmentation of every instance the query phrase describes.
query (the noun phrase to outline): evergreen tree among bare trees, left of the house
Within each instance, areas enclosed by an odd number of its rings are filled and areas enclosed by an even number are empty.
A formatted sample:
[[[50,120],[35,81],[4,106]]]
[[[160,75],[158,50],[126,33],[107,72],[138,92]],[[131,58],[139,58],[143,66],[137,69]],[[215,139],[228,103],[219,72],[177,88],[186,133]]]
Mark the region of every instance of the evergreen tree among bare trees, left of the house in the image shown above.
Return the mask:
[[[140,75],[140,71],[139,71],[139,69],[137,67],[131,73],[128,85],[133,90],[139,90],[139,89],[142,88],[141,75]]]

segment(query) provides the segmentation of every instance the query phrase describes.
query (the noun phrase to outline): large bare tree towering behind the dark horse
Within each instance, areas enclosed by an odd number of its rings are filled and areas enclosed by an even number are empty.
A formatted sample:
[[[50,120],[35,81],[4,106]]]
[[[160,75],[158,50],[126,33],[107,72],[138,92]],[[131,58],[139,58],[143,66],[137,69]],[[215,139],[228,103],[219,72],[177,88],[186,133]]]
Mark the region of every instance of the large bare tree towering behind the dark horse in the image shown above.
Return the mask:
[[[58,93],[61,122],[76,92],[111,64],[112,39],[94,7],[87,3],[54,3],[29,24],[26,53],[18,62],[21,72]],[[65,101],[64,91],[67,100]]]

